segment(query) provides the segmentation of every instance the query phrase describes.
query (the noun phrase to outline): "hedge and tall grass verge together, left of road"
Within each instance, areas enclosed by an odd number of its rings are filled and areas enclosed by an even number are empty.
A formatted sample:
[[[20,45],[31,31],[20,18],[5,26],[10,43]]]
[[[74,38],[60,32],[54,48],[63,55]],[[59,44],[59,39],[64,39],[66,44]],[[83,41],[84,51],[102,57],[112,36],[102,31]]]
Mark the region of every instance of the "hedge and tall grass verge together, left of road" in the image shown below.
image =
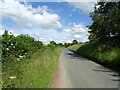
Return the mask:
[[[29,35],[5,31],[2,40],[2,88],[47,88],[55,71],[62,44],[44,45]]]

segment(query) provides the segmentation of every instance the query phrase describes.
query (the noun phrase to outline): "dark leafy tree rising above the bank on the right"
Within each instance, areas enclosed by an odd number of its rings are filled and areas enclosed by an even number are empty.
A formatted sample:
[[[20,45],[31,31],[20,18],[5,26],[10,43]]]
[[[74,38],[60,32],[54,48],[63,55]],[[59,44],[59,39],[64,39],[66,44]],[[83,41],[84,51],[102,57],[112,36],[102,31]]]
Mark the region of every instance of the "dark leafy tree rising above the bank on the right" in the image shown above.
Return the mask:
[[[91,13],[93,20],[89,26],[89,40],[120,46],[120,1],[99,2]]]

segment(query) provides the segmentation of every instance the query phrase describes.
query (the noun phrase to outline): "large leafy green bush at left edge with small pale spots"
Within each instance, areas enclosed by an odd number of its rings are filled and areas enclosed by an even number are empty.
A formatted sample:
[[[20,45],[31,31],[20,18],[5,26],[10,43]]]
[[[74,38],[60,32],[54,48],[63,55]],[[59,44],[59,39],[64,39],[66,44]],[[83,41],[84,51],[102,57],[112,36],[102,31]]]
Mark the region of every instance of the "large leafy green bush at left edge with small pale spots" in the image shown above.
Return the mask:
[[[2,58],[8,59],[10,56],[19,58],[19,56],[27,56],[43,47],[42,42],[35,41],[29,35],[19,35],[14,37],[12,33],[5,30],[2,35]]]

